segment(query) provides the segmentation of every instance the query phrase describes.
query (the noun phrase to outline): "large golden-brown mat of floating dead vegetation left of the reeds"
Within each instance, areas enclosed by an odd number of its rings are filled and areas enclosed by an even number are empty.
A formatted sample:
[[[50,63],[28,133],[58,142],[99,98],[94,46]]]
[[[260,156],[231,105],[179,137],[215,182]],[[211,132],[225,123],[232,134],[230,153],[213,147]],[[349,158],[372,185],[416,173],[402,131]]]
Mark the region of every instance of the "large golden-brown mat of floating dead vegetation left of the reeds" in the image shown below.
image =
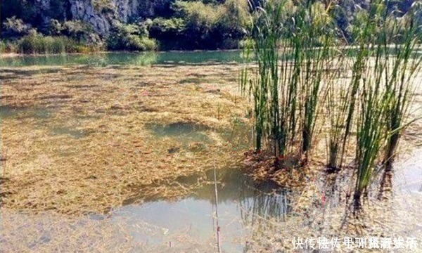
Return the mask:
[[[237,166],[243,153],[234,152],[221,134],[231,132],[234,120],[249,124],[248,105],[234,95],[227,74],[236,71],[234,66],[1,70],[1,109],[10,110],[1,124],[2,205],[103,213],[137,195],[181,195],[185,188],[162,184],[210,169],[212,160],[217,167]],[[210,141],[193,139],[182,148],[177,133],[154,136],[151,124],[199,129]]]

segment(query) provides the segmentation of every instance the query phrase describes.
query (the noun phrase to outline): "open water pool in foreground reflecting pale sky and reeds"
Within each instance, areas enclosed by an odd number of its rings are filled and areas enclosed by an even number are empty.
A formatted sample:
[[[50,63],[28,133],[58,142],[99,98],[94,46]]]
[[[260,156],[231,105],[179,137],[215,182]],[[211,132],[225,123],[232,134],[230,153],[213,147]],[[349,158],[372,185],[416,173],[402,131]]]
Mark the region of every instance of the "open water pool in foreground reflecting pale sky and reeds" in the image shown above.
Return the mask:
[[[238,169],[217,170],[219,226],[222,249],[242,252],[246,241],[267,221],[284,221],[292,211],[293,190],[274,183],[257,183]],[[200,186],[191,195],[177,201],[148,200],[142,205],[127,205],[112,212],[115,222],[148,226],[160,232],[132,230],[139,242],[165,245],[177,235],[196,240],[212,239],[216,231],[214,171],[180,176],[174,183]],[[93,217],[98,219],[98,217]],[[129,226],[128,226],[129,227]],[[165,233],[162,233],[165,231]]]

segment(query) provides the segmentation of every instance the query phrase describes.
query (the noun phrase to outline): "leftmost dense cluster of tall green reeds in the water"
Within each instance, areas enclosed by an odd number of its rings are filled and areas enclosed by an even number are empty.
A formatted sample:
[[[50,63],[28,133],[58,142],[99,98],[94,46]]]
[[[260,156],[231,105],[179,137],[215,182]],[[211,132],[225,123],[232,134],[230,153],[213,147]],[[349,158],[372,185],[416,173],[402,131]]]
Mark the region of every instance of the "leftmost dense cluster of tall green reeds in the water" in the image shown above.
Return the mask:
[[[258,70],[255,79],[248,78],[247,69],[243,69],[241,87],[245,91],[249,86],[254,99],[255,148],[262,149],[262,138],[271,134],[274,141],[274,153],[283,153],[283,133],[279,111],[279,43],[282,34],[283,3],[264,3],[258,8],[250,27],[252,51],[257,60]],[[250,56],[250,47],[245,47],[245,56]]]

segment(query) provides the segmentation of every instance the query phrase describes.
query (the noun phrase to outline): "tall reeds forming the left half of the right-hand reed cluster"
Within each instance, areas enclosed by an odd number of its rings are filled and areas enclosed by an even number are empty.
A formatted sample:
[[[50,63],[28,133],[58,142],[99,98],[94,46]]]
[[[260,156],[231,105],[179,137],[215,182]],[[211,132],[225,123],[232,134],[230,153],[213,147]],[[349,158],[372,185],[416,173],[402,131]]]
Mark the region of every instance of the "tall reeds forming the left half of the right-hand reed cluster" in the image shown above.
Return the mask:
[[[362,195],[367,193],[369,183],[373,179],[385,128],[383,115],[385,112],[385,90],[383,89],[383,75],[385,75],[386,57],[381,46],[385,41],[385,6],[381,1],[374,1],[366,15],[366,34],[360,38],[367,46],[362,54],[362,70],[359,79],[362,82],[359,90],[359,113],[357,115],[356,134],[356,174],[354,185],[354,212],[361,207]],[[359,58],[359,56],[358,56]]]

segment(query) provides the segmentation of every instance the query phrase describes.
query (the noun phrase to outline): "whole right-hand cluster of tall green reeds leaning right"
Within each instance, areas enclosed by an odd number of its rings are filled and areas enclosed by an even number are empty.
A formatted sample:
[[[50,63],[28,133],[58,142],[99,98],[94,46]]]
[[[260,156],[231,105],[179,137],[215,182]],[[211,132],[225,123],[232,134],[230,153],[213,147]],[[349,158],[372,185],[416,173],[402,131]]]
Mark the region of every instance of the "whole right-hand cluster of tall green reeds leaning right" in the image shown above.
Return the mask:
[[[371,34],[367,36],[371,44],[371,54],[366,54],[366,72],[362,77],[357,122],[356,167],[357,181],[354,188],[354,207],[360,207],[360,199],[366,192],[371,179],[379,172],[388,174],[399,141],[399,135],[407,126],[404,119],[409,112],[413,96],[411,77],[417,70],[420,58],[411,58],[416,45],[416,27],[410,16],[404,34],[391,29],[391,17],[383,1],[371,6],[367,24]],[[395,44],[394,39],[402,36],[403,44]],[[392,56],[391,56],[392,53]],[[377,164],[381,150],[383,160]],[[385,177],[384,177],[385,179]]]

